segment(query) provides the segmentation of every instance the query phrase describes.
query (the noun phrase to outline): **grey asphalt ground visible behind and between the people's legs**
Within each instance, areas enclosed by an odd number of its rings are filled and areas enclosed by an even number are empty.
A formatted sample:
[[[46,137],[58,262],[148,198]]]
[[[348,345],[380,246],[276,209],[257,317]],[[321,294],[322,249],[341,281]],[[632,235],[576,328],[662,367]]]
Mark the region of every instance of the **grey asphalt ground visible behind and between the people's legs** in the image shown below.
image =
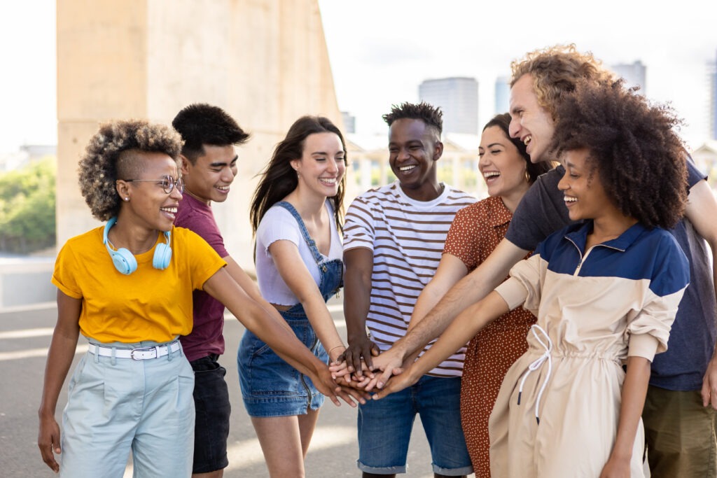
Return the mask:
[[[341,302],[330,305],[340,333],[345,335]],[[52,471],[42,462],[37,449],[37,408],[42,392],[47,347],[57,317],[54,306],[26,308],[0,313],[0,476],[49,477]],[[227,316],[224,335],[227,353],[222,365],[232,396],[232,425],[229,436],[229,468],[224,477],[268,477],[254,429],[244,411],[239,392],[236,352],[243,328]],[[86,341],[80,338],[80,344]],[[75,355],[79,360],[82,351]],[[65,406],[67,383],[57,406],[60,421]],[[306,458],[306,476],[360,477],[356,468],[356,410],[326,402]],[[420,421],[414,426],[409,449],[407,477],[432,477],[430,452]],[[126,477],[131,477],[128,464]]]

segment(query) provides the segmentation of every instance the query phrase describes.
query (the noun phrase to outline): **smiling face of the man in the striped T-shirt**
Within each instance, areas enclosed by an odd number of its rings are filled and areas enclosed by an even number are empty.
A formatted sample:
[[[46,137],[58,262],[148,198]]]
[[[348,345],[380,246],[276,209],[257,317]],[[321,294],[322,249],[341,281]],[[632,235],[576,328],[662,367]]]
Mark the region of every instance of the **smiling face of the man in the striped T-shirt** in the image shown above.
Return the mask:
[[[426,200],[439,190],[436,161],[442,153],[437,131],[422,120],[401,118],[391,124],[389,164],[409,198]]]

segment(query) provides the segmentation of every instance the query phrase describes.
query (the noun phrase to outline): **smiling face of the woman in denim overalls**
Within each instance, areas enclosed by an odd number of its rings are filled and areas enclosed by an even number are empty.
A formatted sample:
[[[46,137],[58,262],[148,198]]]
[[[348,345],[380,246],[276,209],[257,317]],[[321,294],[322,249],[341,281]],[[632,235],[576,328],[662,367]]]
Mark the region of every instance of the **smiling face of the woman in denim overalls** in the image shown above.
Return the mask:
[[[346,172],[345,153],[341,138],[335,133],[313,133],[304,140],[301,159],[291,161],[298,174],[298,188],[330,198]]]

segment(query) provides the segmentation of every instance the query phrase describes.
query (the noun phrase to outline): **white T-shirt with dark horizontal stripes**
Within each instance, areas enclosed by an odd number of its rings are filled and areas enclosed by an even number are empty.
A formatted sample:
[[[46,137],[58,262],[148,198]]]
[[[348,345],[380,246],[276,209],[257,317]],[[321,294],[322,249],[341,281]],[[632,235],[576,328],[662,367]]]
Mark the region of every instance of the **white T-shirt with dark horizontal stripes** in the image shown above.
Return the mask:
[[[343,249],[374,252],[366,326],[381,352],[406,335],[416,300],[438,268],[456,212],[475,201],[447,185],[433,201],[415,201],[394,182],[361,194],[349,206]],[[429,374],[461,376],[464,356],[461,349]]]

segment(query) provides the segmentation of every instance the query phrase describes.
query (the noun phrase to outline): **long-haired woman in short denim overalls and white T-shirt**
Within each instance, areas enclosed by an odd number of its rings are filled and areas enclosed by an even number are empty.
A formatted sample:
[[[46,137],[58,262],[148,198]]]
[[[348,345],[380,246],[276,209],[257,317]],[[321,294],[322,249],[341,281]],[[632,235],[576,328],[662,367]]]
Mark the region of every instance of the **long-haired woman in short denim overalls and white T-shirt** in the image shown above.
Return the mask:
[[[326,301],[342,286],[346,146],[323,117],[299,118],[262,173],[250,217],[259,288],[306,347],[336,360],[343,341]],[[247,331],[239,383],[272,477],[303,476],[323,396],[310,379]]]

